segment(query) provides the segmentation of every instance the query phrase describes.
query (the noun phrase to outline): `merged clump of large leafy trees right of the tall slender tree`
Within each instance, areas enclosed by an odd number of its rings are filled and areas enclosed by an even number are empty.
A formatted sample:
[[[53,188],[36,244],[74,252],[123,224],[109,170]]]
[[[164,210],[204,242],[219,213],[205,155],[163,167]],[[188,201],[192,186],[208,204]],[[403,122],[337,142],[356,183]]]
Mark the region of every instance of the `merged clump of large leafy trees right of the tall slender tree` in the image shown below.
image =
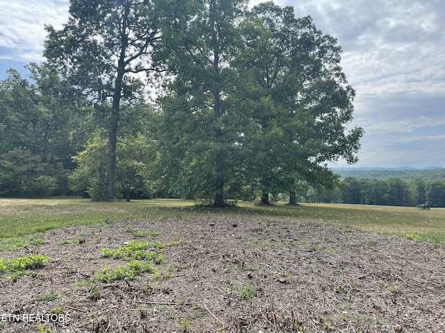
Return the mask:
[[[347,133],[354,90],[341,48],[292,7],[195,1],[168,35],[175,80],[163,101],[165,177],[185,196],[333,187],[327,161],[355,162],[362,129]],[[242,15],[244,13],[244,15]],[[180,50],[180,51],[178,51]],[[167,138],[168,137],[168,138]]]

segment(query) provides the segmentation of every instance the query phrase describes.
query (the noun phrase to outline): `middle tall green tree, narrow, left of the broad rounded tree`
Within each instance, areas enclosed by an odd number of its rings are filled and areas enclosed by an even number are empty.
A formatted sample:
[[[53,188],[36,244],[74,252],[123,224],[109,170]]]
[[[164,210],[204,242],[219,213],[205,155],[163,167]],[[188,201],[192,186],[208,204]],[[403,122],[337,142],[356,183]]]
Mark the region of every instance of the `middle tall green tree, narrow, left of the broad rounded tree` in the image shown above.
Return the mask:
[[[186,1],[188,3],[188,1]],[[175,192],[213,198],[216,207],[239,188],[245,128],[230,66],[241,43],[244,0],[190,1],[170,22],[168,67],[175,80],[161,99],[161,157]]]

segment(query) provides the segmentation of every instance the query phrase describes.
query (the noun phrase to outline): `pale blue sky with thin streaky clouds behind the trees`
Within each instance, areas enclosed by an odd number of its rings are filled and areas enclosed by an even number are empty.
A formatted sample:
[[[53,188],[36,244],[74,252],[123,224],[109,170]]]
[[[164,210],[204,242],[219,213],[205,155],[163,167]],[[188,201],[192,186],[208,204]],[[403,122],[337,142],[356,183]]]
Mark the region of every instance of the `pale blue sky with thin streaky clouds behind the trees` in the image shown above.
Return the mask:
[[[251,0],[250,5],[259,3]],[[445,1],[275,0],[337,38],[364,128],[359,162],[330,167],[445,167]],[[0,80],[42,61],[44,24],[67,22],[68,0],[0,0]]]

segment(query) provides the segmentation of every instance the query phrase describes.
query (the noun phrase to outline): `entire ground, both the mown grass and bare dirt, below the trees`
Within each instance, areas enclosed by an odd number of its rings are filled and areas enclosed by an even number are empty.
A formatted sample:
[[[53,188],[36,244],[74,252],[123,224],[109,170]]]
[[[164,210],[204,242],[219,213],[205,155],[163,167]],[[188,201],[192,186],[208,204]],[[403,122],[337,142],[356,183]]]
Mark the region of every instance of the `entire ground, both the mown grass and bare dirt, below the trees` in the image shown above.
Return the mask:
[[[0,331],[445,332],[444,216],[0,199]]]

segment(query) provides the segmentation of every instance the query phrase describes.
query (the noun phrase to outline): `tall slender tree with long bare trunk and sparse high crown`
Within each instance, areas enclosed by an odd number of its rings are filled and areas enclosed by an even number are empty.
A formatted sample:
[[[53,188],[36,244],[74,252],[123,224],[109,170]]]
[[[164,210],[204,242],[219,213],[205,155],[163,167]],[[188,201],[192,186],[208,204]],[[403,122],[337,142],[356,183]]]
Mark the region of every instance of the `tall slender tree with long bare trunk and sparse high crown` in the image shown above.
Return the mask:
[[[120,107],[141,98],[138,74],[159,71],[151,55],[160,37],[162,6],[156,0],[71,0],[63,28],[47,26],[49,65],[104,112],[107,200],[115,198]]]

